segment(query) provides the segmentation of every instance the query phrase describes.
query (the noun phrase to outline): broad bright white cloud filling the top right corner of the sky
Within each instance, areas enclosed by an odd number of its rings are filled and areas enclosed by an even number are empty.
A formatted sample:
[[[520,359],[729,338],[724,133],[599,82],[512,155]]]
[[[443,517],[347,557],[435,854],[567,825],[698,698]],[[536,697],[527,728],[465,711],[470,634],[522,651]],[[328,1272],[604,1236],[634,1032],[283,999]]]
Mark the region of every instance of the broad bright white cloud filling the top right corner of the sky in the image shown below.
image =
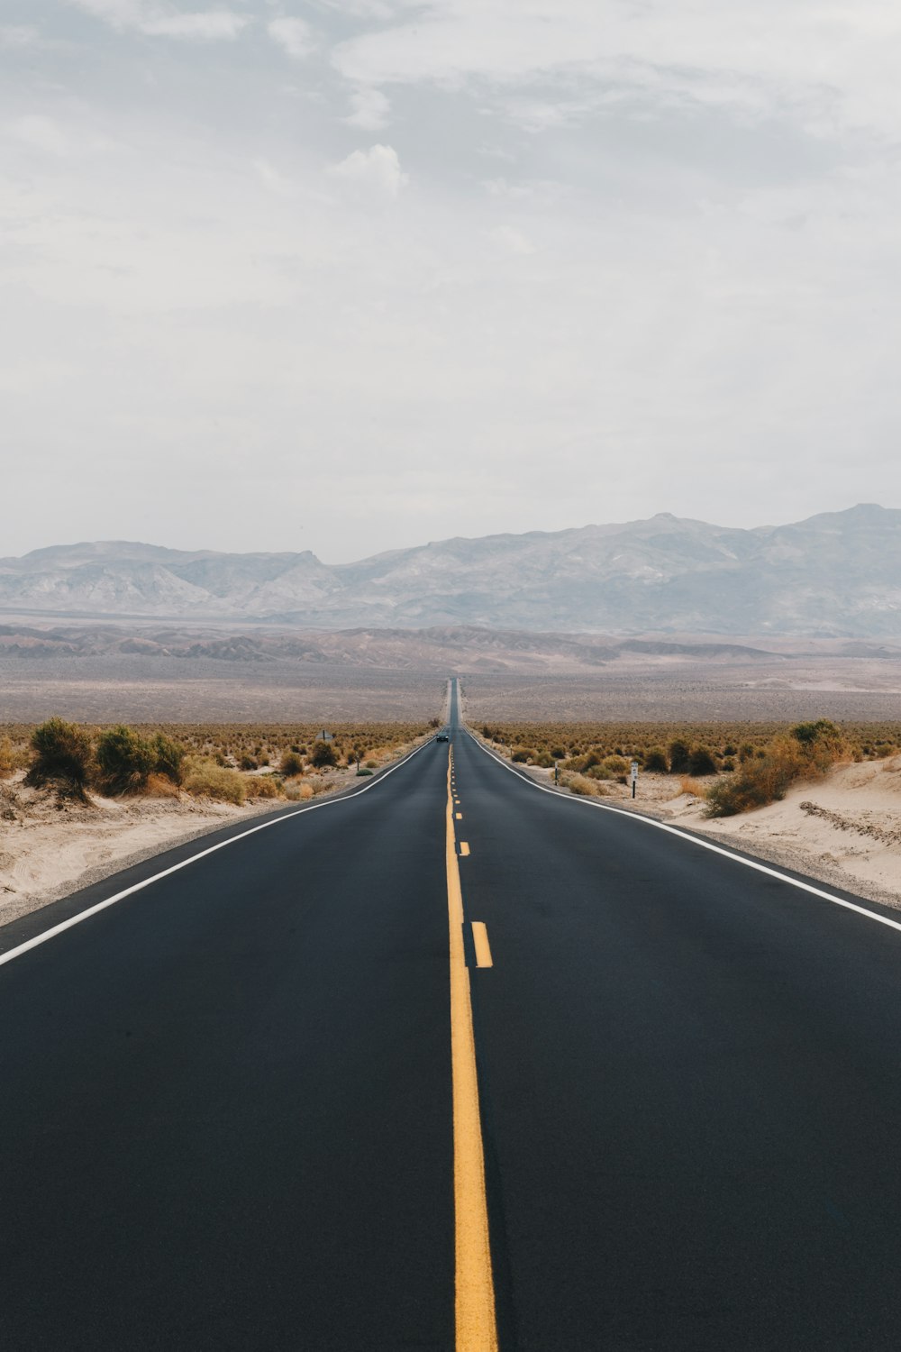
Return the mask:
[[[501,87],[540,76],[586,77],[765,118],[790,114],[816,130],[901,132],[901,12],[885,0],[434,0],[415,16],[335,49],[358,84]],[[557,124],[554,100],[520,100],[532,130]],[[563,91],[561,91],[563,95]],[[565,96],[561,99],[566,105]],[[593,100],[589,100],[590,107]]]

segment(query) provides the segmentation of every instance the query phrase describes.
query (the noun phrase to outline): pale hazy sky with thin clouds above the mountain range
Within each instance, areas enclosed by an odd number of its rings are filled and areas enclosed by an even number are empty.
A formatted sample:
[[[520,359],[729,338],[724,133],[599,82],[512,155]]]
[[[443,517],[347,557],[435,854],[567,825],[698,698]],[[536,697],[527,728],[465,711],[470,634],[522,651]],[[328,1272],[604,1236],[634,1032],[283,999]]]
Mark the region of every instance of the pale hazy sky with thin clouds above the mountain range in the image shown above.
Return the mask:
[[[901,504],[897,0],[0,15],[0,554]]]

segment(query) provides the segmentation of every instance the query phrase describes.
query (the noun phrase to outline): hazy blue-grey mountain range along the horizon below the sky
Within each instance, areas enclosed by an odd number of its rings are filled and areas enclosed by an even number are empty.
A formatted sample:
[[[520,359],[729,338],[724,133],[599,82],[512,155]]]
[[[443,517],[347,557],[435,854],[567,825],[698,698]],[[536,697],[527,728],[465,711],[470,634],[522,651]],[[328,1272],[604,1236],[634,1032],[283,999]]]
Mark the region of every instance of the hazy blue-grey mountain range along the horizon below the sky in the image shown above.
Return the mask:
[[[313,629],[901,635],[901,511],[736,530],[679,519],[446,539],[323,564],[120,541],[0,560],[0,611]]]

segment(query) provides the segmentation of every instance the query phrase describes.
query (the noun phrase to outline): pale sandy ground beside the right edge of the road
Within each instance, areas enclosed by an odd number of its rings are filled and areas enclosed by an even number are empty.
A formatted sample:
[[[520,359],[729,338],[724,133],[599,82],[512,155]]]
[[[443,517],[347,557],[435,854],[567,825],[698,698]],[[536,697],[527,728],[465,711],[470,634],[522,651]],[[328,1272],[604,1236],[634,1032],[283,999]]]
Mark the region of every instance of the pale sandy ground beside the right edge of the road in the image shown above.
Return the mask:
[[[523,767],[519,767],[520,769]],[[528,769],[539,783],[554,772]],[[793,787],[781,803],[709,819],[700,792],[678,792],[667,775],[642,775],[632,803],[627,787],[604,783],[602,798],[708,836],[781,868],[805,873],[901,910],[901,756],[838,765],[825,779]]]

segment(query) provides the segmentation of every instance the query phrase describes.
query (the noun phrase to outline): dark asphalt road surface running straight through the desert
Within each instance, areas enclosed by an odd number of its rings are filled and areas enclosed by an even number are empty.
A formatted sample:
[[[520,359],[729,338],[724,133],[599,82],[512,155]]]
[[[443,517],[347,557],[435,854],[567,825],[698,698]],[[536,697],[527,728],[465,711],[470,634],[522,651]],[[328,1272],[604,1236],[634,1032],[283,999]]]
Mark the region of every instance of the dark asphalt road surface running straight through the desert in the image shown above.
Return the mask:
[[[501,1352],[901,1345],[901,933],[454,773]],[[430,744],[0,965],[4,1352],[462,1345],[446,810]]]

